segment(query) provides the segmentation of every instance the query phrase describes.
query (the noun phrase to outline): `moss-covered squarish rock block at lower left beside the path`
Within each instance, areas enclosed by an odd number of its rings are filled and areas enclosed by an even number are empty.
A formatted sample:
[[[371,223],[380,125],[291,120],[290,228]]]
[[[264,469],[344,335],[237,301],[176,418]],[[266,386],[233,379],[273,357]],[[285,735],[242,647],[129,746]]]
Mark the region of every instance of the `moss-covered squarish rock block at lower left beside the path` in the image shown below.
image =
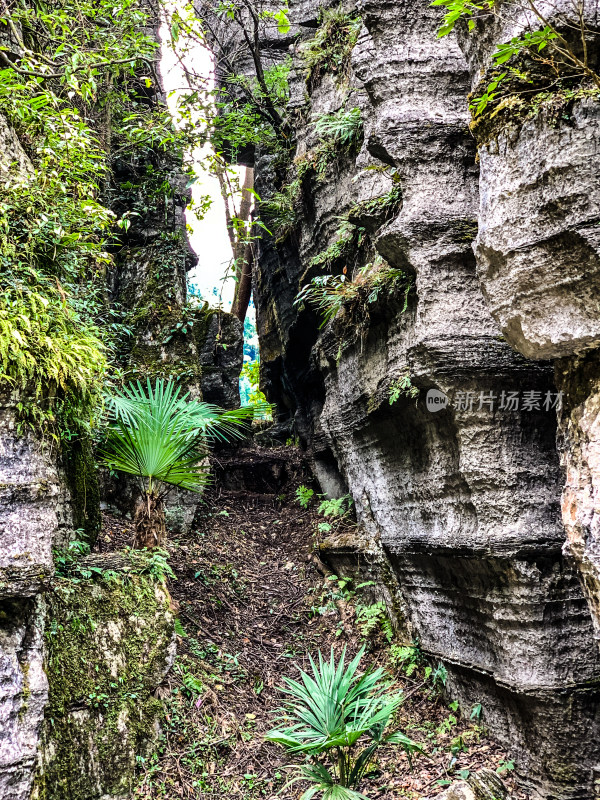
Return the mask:
[[[103,558],[101,575],[56,578],[46,595],[49,695],[33,800],[130,797],[158,733],[155,692],[174,655],[169,594],[122,556]]]

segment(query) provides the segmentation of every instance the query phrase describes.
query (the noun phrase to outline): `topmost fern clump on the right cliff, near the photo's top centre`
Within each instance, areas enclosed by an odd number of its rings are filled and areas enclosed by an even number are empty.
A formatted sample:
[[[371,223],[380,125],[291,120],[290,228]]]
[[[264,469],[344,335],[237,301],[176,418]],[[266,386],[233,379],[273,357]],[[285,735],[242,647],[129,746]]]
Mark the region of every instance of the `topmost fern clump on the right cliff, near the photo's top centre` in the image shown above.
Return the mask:
[[[321,11],[314,38],[300,46],[306,82],[311,88],[326,73],[345,77],[360,26],[360,17],[345,13],[341,5]]]

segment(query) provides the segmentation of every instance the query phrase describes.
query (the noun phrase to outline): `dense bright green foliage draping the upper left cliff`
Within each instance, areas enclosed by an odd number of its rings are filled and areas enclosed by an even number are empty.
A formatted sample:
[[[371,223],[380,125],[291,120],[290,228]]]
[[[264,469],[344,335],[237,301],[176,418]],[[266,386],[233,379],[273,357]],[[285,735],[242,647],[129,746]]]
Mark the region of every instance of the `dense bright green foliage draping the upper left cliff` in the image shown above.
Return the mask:
[[[0,199],[0,381],[24,390],[22,415],[55,437],[93,424],[119,338],[105,272],[129,221],[99,200],[105,145],[120,157],[178,146],[166,109],[148,104],[153,24],[142,0],[40,0],[0,19],[0,113],[30,159]]]

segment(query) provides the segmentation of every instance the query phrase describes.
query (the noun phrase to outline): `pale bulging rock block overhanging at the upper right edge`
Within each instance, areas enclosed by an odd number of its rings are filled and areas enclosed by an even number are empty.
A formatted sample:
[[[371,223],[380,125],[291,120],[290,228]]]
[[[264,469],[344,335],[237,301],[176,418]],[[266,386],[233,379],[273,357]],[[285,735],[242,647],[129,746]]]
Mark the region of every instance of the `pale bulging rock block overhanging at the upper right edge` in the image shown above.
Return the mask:
[[[600,344],[600,103],[541,113],[479,148],[475,244],[486,302],[528,358]]]

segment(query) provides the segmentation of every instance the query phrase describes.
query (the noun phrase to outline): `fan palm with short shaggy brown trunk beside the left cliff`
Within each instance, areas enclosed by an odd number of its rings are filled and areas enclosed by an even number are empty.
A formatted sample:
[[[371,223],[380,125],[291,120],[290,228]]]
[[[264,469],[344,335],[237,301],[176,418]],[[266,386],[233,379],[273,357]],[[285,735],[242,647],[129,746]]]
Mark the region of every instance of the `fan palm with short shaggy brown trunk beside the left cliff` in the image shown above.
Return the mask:
[[[100,458],[142,480],[135,510],[135,547],[160,547],[166,537],[164,499],[174,487],[201,492],[211,441],[243,436],[256,406],[223,411],[188,400],[173,381],[131,383],[107,399],[110,422]]]

